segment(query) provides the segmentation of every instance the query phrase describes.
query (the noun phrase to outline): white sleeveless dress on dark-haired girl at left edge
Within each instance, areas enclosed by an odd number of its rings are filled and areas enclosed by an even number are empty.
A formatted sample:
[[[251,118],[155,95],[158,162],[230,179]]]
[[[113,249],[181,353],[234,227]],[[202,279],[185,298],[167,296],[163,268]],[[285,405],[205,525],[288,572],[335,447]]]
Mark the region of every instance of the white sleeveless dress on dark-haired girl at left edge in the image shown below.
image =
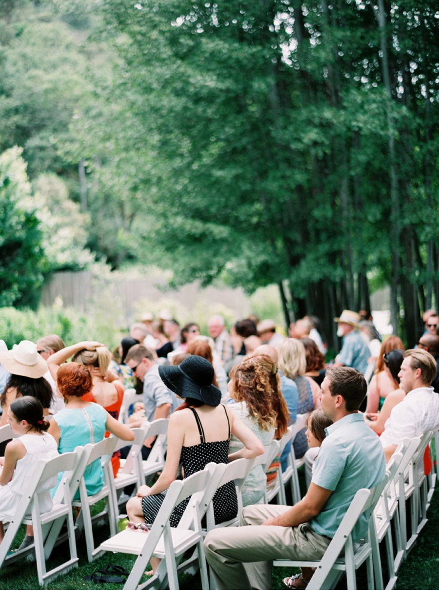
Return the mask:
[[[51,460],[58,456],[57,443],[49,433],[26,434],[19,437],[19,440],[26,448],[27,453],[21,460],[18,460],[11,482],[0,486],[0,521],[11,521],[14,518],[17,506],[21,501],[21,495],[37,461],[41,458]],[[40,482],[37,488],[41,513],[46,513],[53,507],[50,489],[56,486],[57,479],[57,474],[46,478]]]

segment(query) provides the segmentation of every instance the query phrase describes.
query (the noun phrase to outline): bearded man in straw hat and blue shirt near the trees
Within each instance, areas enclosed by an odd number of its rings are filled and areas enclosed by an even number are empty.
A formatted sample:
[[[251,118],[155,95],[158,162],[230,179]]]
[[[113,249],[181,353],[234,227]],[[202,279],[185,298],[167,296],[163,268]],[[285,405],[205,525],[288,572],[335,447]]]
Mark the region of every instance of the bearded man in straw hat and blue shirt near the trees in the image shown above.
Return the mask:
[[[370,351],[358,332],[360,314],[352,310],[343,310],[340,318],[334,318],[337,323],[337,336],[343,337],[342,350],[336,357],[335,367],[346,365],[365,373],[368,368]]]

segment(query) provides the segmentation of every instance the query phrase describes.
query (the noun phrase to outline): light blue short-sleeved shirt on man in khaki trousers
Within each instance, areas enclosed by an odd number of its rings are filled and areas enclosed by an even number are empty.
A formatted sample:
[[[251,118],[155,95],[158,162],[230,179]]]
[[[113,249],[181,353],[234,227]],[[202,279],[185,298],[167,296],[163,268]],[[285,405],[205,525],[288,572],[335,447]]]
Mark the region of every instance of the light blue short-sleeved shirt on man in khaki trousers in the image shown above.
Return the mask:
[[[373,488],[385,478],[386,460],[378,435],[360,413],[348,414],[325,431],[311,482],[334,492],[310,525],[317,534],[333,538],[356,492]],[[368,519],[363,514],[353,529],[353,540],[367,532]]]

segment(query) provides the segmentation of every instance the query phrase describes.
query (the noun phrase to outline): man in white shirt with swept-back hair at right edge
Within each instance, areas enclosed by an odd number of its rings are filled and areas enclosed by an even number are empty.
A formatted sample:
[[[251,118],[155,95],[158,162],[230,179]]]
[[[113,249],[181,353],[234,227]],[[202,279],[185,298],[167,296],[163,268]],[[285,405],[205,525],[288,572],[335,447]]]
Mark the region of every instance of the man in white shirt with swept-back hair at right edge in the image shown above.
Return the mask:
[[[409,349],[404,353],[399,387],[407,392],[402,402],[394,408],[379,438],[384,448],[386,462],[408,437],[422,436],[426,431],[439,429],[439,394],[430,387],[436,375],[433,355],[422,349]]]

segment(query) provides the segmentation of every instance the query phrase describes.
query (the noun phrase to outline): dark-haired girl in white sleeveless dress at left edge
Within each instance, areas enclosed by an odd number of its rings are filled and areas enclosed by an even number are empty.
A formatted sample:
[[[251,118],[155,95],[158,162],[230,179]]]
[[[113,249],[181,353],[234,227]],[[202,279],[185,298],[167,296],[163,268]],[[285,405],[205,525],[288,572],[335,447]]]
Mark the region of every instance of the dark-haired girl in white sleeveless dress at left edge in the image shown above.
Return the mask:
[[[35,463],[40,458],[50,460],[58,455],[56,441],[45,432],[49,423],[43,418],[43,405],[37,398],[24,396],[11,402],[8,423],[20,437],[9,441],[5,457],[0,458],[0,543],[4,538],[3,522],[14,518]],[[50,489],[56,483],[57,475],[43,480],[38,486],[41,513],[53,507]],[[33,532],[28,529],[27,534]],[[26,535],[26,538],[25,545],[33,543],[33,535]]]

